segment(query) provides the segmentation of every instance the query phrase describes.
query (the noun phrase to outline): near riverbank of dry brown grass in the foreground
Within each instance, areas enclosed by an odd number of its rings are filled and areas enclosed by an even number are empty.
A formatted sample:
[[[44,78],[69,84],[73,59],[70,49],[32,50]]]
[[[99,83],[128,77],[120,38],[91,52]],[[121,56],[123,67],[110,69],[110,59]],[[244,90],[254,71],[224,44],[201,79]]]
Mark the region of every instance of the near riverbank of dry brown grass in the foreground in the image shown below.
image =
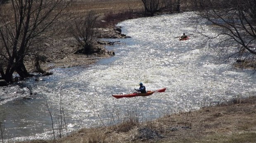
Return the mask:
[[[21,143],[255,143],[256,97],[138,122],[130,115],[110,127],[85,128],[57,140]]]

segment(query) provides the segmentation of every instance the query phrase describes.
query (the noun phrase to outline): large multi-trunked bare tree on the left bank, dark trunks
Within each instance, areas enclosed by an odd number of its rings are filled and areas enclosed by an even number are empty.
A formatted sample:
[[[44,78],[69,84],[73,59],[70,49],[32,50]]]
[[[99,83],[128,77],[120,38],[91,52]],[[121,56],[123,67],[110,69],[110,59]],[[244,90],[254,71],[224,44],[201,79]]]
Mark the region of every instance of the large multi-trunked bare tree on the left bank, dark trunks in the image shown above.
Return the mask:
[[[0,74],[5,81],[12,81],[14,71],[21,78],[32,76],[24,65],[24,59],[34,56],[34,48],[47,38],[47,32],[54,30],[54,22],[70,2],[11,0],[1,5]]]

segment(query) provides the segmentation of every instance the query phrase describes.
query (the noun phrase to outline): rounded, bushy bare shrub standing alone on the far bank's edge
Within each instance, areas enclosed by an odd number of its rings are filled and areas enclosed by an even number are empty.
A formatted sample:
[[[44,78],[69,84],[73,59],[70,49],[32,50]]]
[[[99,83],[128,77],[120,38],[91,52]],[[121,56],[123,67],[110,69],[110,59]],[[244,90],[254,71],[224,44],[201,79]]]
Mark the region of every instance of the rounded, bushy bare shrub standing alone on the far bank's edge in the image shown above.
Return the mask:
[[[76,38],[78,44],[83,46],[83,49],[78,53],[89,54],[92,53],[93,44],[97,41],[97,36],[95,32],[97,18],[95,12],[90,11],[82,19],[75,20],[75,29],[72,31],[73,36]]]

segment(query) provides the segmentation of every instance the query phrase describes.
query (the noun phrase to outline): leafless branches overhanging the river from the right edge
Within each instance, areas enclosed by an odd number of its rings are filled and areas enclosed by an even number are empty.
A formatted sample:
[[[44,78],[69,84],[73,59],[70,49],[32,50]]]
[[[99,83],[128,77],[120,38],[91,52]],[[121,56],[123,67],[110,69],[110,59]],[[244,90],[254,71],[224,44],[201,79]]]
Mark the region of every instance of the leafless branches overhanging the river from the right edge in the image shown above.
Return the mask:
[[[199,16],[218,27],[218,35],[206,36],[222,36],[218,47],[229,53],[228,58],[255,57],[256,0],[205,0],[200,5]]]

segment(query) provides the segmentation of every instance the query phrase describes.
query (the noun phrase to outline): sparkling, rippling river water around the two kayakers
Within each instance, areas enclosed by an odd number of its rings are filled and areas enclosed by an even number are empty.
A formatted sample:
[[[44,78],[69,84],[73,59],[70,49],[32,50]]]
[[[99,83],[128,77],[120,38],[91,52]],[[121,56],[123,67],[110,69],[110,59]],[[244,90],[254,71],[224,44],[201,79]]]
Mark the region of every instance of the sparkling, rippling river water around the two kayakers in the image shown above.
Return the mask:
[[[192,22],[194,15],[160,15],[119,23],[128,39],[107,46],[116,55],[95,65],[55,68],[44,81],[28,79],[0,88],[0,124],[5,141],[53,138],[62,101],[67,131],[110,125],[127,115],[140,121],[167,113],[197,110],[232,98],[256,94],[256,75],[232,67],[235,60],[220,61],[218,53],[206,50],[204,37],[215,35],[209,23]],[[194,34],[189,40],[177,37]],[[214,42],[210,43],[214,45]],[[112,94],[132,93],[142,82],[147,90],[166,87],[166,92],[148,97],[115,99]],[[23,88],[19,88],[19,87]],[[252,88],[254,87],[254,88]],[[31,92],[36,95],[29,95]],[[33,99],[22,99],[24,96]],[[66,129],[65,129],[66,131]],[[66,134],[66,133],[65,133]]]

